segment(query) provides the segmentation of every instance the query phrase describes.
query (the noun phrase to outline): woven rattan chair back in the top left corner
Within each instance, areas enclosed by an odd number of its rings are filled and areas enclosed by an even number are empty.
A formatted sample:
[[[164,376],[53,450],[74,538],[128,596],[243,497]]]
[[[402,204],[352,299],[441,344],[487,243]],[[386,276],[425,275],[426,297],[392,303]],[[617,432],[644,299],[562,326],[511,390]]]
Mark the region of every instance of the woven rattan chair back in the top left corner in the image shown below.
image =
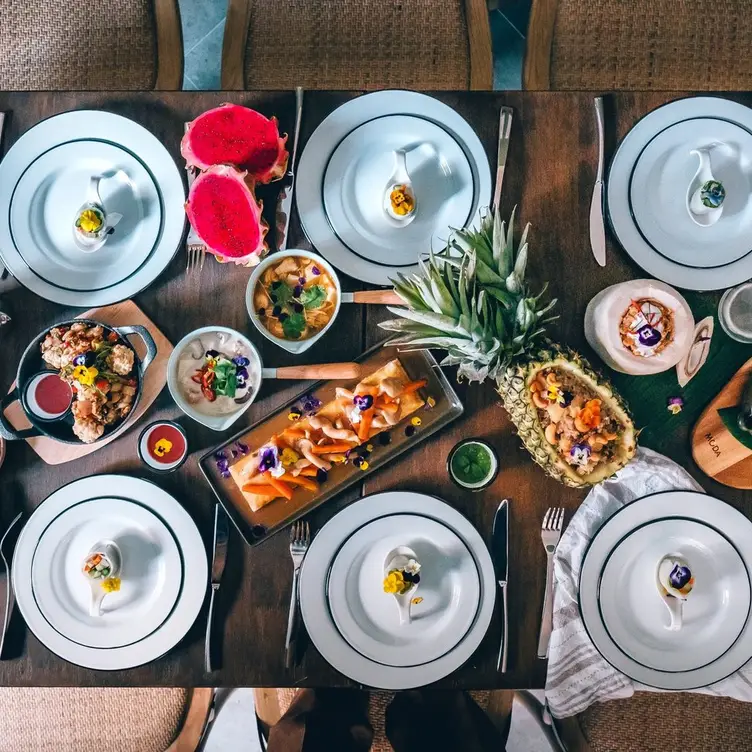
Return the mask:
[[[0,90],[177,90],[177,0],[2,0]]]

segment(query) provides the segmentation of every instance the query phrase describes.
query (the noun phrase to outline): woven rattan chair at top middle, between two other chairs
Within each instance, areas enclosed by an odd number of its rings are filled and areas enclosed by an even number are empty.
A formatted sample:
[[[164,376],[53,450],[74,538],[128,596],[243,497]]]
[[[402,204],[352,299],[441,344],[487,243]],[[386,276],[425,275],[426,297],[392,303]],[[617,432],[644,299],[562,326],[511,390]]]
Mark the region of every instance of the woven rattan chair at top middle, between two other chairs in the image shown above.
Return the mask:
[[[485,0],[229,0],[223,89],[491,89]]]

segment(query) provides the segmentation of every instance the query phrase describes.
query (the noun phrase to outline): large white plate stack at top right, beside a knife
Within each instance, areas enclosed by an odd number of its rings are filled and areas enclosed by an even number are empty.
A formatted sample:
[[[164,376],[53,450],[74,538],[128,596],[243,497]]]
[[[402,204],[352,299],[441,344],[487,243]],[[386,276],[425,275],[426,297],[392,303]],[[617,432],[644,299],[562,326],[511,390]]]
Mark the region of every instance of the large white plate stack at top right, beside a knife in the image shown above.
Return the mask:
[[[725,125],[720,125],[722,122]],[[714,123],[718,124],[718,137],[713,135],[716,132]],[[675,130],[680,124],[681,129]],[[664,131],[667,132],[665,136],[662,135]],[[743,230],[737,231],[733,226],[738,222],[746,227],[745,223],[748,221],[748,209],[741,208],[743,196],[736,195],[736,187],[738,185],[742,189],[744,180],[749,181],[749,173],[741,173],[749,169],[752,153],[749,151],[748,136],[742,136],[740,131],[752,133],[752,110],[748,107],[721,97],[689,97],[653,110],[629,131],[619,145],[607,180],[606,206],[609,221],[622,247],[652,276],[676,287],[691,290],[723,289],[752,277],[752,253],[740,255],[744,250]],[[710,235],[704,237],[713,236],[719,241],[728,233],[734,244],[725,248],[715,242],[704,245],[704,241],[699,240],[684,250],[678,245],[684,237],[684,219],[682,218],[678,228],[673,225],[679,216],[676,202],[686,198],[689,181],[685,181],[685,177],[690,168],[689,163],[683,161],[682,154],[675,150],[683,152],[696,148],[698,144],[707,146],[709,139],[720,141],[721,136],[731,140],[732,149],[741,149],[734,157],[737,166],[726,175],[732,180],[730,187],[734,188],[734,195],[729,194],[731,210],[726,215],[724,209],[717,227],[698,227],[697,231],[698,237],[702,237],[699,233],[710,230]],[[658,138],[658,145],[650,149],[651,143]],[[647,156],[642,158],[646,151]],[[721,157],[723,155],[720,153],[716,155],[719,169],[727,172],[720,164]],[[728,155],[725,159],[727,158]],[[674,159],[677,160],[676,164]],[[635,199],[640,198],[640,202],[635,204],[639,216],[636,219],[632,214],[631,183],[638,161],[640,173],[637,179],[641,181],[640,185],[648,185],[646,176],[650,176],[649,179],[653,182],[649,193],[647,188],[640,197],[635,192]],[[697,165],[695,169],[696,167]],[[667,182],[669,180],[681,180],[681,184],[672,185]],[[655,202],[652,212],[645,205],[650,201]],[[686,208],[684,211],[686,213]],[[723,227],[720,226],[722,223]],[[646,234],[643,234],[643,230]],[[749,237],[749,234],[745,237]],[[656,244],[655,247],[651,245],[651,240]],[[708,246],[712,247],[711,251],[708,251]]]

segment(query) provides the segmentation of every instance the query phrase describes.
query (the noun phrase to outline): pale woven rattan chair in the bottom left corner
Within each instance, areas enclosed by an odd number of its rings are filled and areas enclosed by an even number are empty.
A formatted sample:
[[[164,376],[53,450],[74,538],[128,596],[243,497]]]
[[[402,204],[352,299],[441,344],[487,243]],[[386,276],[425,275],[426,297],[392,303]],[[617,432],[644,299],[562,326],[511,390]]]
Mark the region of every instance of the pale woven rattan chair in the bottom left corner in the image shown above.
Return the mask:
[[[0,752],[195,752],[212,689],[0,688]]]

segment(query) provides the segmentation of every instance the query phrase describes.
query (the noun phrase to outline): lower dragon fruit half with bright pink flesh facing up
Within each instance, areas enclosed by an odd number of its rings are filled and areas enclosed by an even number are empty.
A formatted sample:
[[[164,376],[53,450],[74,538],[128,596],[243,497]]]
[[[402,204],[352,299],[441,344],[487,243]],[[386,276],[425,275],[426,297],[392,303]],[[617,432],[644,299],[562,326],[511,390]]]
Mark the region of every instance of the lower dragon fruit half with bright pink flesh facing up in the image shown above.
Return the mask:
[[[207,250],[218,261],[243,266],[255,266],[267,250],[264,236],[269,227],[261,217],[262,208],[247,174],[230,165],[199,173],[185,205]]]

